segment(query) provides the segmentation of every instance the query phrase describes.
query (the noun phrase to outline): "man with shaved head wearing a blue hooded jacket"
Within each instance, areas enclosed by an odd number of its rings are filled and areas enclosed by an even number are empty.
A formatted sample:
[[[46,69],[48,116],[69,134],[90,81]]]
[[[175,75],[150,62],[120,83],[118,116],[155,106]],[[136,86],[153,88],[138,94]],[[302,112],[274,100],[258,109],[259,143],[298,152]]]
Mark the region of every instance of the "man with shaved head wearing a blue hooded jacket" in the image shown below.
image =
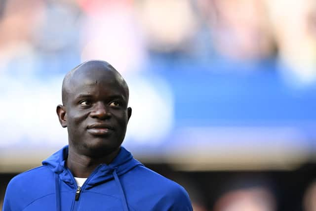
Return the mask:
[[[107,62],[70,71],[57,106],[69,146],[8,184],[3,211],[192,211],[187,192],[123,147],[128,86]]]

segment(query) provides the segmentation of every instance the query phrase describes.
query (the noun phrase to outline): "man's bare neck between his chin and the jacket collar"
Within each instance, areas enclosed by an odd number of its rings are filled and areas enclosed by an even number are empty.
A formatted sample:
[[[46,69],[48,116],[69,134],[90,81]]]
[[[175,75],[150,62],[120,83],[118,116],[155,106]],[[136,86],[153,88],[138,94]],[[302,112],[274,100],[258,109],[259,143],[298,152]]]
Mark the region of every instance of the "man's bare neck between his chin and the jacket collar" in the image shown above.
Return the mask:
[[[73,147],[69,146],[67,168],[75,177],[87,178],[98,165],[109,165],[118,155],[119,149],[102,157],[90,157],[79,154]]]

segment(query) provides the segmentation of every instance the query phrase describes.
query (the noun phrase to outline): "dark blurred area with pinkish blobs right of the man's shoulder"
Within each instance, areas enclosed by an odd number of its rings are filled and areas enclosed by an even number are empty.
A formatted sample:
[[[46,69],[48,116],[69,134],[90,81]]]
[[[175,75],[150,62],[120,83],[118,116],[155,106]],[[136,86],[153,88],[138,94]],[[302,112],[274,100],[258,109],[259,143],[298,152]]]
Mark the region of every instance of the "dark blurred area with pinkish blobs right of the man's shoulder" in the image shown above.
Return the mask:
[[[305,181],[304,188],[298,188],[298,183],[302,185],[299,179],[291,178],[290,183],[281,184],[276,182],[279,178],[267,175],[263,172],[217,173],[206,178],[210,184],[199,176],[196,178],[202,181],[183,179],[183,176],[175,180],[188,190],[194,211],[316,211],[315,178]],[[280,190],[281,186],[285,191]]]

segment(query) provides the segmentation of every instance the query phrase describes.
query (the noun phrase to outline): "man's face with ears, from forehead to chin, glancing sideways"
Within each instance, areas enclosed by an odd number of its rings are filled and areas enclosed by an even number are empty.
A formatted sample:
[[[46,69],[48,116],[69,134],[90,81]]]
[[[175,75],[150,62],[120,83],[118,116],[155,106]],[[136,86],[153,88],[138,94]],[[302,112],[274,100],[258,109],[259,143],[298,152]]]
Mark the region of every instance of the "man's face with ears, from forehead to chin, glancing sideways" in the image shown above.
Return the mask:
[[[69,145],[87,156],[107,155],[121,145],[131,108],[125,88],[111,71],[76,71],[67,85],[67,100],[57,107]],[[64,112],[64,113],[63,113]]]

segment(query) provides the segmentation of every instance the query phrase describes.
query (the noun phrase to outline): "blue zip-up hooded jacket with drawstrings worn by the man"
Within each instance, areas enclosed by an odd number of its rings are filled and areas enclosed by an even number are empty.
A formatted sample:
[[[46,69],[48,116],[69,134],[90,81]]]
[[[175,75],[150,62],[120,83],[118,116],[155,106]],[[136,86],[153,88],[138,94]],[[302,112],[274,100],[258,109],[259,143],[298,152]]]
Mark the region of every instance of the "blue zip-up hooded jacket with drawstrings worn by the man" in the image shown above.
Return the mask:
[[[68,146],[9,182],[3,211],[192,211],[177,183],[144,167],[121,147],[99,165],[79,190],[65,167]],[[77,193],[76,193],[77,192]]]

